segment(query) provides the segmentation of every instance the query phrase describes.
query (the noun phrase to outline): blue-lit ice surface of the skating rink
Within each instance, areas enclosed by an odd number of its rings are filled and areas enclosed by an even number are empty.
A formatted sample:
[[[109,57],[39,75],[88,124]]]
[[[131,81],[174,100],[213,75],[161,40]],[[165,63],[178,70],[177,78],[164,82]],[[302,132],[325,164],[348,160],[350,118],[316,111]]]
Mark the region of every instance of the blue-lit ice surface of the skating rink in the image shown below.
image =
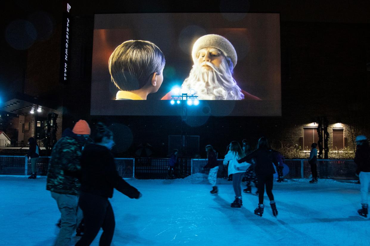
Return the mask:
[[[114,191],[112,245],[370,245],[370,220],[357,214],[355,181],[275,182],[277,218],[266,195],[262,218],[253,214],[256,195],[243,193],[242,208],[230,207],[232,182],[224,179],[218,195],[209,193],[201,174],[127,181],[143,196],[129,199]],[[0,176],[0,245],[53,245],[60,212],[45,188],[46,177]],[[71,245],[78,239],[73,236]]]

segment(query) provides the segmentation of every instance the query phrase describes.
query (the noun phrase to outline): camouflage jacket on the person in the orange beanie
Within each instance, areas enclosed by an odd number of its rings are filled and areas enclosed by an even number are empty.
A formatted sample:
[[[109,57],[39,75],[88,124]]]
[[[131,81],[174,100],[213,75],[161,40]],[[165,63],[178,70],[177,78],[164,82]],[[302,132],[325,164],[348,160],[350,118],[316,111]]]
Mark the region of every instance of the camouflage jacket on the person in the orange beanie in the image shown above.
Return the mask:
[[[47,172],[46,190],[59,194],[80,194],[81,151],[83,136],[65,129],[62,138],[54,145]]]

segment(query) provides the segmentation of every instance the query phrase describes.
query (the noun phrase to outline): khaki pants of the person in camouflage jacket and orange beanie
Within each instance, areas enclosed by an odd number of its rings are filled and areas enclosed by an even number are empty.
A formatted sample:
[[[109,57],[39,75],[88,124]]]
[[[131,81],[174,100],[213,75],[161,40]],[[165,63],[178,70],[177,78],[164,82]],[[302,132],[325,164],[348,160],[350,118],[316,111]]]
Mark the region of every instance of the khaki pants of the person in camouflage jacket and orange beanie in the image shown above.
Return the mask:
[[[71,237],[83,217],[81,209],[78,208],[78,196],[59,194],[51,191],[51,197],[58,204],[61,219],[61,228],[55,245],[67,246],[70,244]]]

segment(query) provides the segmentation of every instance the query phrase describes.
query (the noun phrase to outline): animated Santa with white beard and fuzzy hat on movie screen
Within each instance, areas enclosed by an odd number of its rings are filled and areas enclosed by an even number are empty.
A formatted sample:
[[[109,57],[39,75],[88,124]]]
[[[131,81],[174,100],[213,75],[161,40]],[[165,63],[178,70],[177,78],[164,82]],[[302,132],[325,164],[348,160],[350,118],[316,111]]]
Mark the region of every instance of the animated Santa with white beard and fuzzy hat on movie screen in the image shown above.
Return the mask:
[[[193,94],[199,100],[260,100],[240,89],[232,77],[238,57],[233,45],[224,37],[208,34],[193,45],[194,65],[181,86],[181,93]],[[173,91],[162,100],[170,100]]]

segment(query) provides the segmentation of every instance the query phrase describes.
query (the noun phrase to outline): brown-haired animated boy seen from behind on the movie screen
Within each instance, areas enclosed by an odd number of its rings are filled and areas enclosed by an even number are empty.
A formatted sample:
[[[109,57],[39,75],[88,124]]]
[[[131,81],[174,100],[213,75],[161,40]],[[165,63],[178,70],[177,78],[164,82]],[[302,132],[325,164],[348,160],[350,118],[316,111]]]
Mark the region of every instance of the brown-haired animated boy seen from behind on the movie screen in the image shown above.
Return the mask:
[[[161,87],[165,63],[162,51],[152,42],[129,40],[118,45],[108,64],[119,89],[116,100],[147,100]]]

